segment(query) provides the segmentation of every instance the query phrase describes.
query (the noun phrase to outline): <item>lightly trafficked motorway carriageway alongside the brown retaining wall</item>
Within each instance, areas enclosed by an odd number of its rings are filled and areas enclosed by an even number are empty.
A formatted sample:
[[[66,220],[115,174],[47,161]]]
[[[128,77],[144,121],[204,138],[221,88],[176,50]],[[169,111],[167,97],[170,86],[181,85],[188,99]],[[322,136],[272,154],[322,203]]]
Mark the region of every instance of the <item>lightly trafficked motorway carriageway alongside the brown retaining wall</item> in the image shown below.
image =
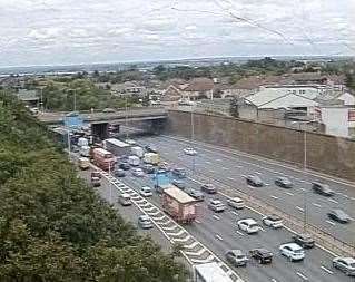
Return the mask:
[[[351,184],[338,179],[324,178],[309,172],[304,174],[302,171],[287,165],[235,150],[200,143],[191,144],[186,139],[154,136],[140,138],[139,143],[141,145],[155,144],[165,161],[189,169],[193,179],[194,175],[203,175],[211,183],[216,181],[217,186],[218,183],[223,183],[234,189],[257,197],[299,220],[304,220],[306,207],[308,223],[355,246],[355,222],[339,224],[331,221],[326,215],[332,208],[343,208],[352,218],[355,218],[355,187]],[[187,146],[193,146],[198,155],[196,157],[186,156],[183,149]],[[257,174],[266,185],[259,188],[248,186],[244,178],[248,174]],[[287,176],[293,181],[294,187],[285,189],[276,186],[274,181],[277,176]],[[314,194],[310,188],[310,183],[314,181],[328,184],[336,192],[336,195],[325,197]]]

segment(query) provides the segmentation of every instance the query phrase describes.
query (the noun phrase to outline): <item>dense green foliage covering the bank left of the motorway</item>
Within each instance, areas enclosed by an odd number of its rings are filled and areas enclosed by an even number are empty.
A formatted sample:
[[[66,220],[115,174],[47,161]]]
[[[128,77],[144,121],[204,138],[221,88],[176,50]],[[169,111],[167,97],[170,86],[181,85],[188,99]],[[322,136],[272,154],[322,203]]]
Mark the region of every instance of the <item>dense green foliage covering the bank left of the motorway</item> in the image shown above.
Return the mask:
[[[0,93],[0,280],[186,281],[77,177],[13,96]]]

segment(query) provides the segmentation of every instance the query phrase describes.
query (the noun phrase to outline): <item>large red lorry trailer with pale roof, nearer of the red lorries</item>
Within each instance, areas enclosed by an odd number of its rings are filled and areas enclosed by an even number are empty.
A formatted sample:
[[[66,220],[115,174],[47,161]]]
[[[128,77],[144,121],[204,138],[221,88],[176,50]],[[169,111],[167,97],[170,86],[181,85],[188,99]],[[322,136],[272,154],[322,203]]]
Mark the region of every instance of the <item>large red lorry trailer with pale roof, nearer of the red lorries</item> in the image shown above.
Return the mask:
[[[162,191],[162,211],[178,223],[195,221],[196,203],[195,198],[177,187],[172,186]]]

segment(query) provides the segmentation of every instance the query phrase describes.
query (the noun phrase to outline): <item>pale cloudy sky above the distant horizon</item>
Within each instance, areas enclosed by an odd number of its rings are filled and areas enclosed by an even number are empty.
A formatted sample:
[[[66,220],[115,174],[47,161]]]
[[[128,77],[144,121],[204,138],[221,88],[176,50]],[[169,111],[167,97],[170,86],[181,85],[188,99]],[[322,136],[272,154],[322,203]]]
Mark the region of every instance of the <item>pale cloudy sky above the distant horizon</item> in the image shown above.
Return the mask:
[[[355,54],[354,0],[0,0],[0,67]]]

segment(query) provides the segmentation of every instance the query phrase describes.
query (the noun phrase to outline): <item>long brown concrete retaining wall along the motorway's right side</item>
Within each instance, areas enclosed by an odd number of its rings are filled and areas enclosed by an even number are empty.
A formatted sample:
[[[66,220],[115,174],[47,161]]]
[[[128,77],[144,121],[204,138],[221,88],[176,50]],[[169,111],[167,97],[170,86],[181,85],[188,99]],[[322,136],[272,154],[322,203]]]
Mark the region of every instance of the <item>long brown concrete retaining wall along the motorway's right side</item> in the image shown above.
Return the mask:
[[[194,114],[195,139],[296,165],[304,132],[221,116]],[[166,133],[190,138],[191,114],[169,110]],[[355,182],[355,142],[307,133],[307,168]]]

